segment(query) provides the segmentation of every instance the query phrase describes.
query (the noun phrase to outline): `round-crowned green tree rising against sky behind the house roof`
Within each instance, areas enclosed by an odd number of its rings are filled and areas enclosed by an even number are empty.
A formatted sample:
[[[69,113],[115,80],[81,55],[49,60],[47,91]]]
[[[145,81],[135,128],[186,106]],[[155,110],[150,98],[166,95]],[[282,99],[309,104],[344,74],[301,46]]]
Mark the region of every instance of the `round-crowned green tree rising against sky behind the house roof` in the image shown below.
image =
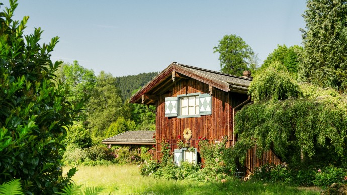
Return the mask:
[[[248,61],[254,55],[251,47],[236,35],[225,35],[213,49],[213,53],[220,53],[221,71],[237,76],[242,76],[243,71],[248,69]]]

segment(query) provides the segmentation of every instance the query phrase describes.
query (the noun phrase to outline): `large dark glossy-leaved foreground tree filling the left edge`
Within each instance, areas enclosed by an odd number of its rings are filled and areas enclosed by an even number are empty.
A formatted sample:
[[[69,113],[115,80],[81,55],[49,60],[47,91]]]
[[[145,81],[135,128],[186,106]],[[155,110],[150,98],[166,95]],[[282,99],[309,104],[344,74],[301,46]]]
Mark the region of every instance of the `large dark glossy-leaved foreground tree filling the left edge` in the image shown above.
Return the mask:
[[[41,46],[40,28],[23,35],[29,17],[12,20],[17,5],[10,0],[0,12],[0,183],[21,179],[25,193],[54,194],[76,171],[62,176],[62,140],[85,100],[67,102],[68,86],[52,80],[61,64],[50,60],[58,37]]]

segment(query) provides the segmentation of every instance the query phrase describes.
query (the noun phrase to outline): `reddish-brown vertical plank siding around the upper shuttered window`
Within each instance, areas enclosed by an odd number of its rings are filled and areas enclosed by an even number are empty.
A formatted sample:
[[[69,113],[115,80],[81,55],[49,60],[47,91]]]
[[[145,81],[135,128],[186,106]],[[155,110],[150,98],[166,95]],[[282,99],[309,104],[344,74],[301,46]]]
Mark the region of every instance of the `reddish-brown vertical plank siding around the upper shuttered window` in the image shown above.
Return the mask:
[[[208,140],[221,140],[227,135],[229,145],[232,143],[232,108],[247,99],[247,95],[224,92],[220,90],[212,91],[212,115],[202,115],[200,117],[179,118],[165,117],[164,100],[165,97],[176,97],[177,95],[190,93],[209,93],[209,85],[195,79],[181,79],[175,82],[168,93],[160,95],[156,102],[156,159],[160,159],[160,143],[162,140],[171,145],[171,149],[177,148],[178,135],[183,139],[183,130],[192,130],[192,138],[189,140],[190,146],[196,147],[198,138],[205,136]]]

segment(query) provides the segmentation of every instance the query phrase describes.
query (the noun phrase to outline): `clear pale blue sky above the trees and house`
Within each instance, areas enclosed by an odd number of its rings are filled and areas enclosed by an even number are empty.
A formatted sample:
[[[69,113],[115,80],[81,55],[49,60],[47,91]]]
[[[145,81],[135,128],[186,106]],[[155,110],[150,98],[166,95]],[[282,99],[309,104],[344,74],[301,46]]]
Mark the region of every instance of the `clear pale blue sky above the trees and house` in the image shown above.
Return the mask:
[[[14,18],[30,16],[26,34],[41,27],[43,42],[60,37],[52,61],[113,76],[160,72],[173,61],[219,71],[213,47],[226,34],[242,37],[263,62],[277,44],[301,45],[306,9],[303,0],[18,3]]]

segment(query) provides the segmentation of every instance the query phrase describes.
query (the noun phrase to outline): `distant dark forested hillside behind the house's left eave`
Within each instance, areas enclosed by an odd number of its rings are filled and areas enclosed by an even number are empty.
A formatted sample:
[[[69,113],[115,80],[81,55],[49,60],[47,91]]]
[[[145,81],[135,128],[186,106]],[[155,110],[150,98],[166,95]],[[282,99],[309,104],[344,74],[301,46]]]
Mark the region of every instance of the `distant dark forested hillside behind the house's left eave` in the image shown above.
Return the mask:
[[[147,84],[147,82],[152,80],[152,78],[154,78],[156,75],[158,75],[158,72],[116,77],[123,100],[125,101],[128,99],[134,90],[137,90]]]

